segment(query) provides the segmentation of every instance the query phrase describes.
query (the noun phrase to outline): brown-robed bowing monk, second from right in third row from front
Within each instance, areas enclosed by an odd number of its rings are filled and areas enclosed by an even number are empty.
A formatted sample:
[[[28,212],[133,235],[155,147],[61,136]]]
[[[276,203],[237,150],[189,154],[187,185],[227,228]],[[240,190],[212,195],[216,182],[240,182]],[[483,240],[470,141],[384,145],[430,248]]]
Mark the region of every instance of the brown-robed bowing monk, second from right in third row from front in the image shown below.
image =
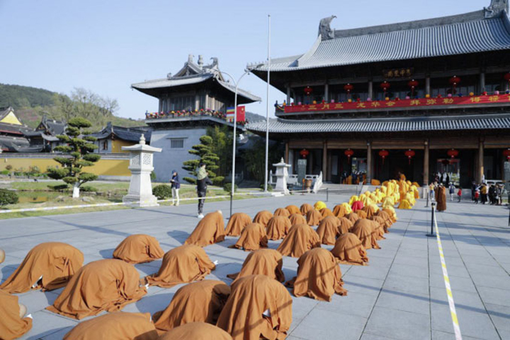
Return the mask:
[[[306,251],[319,246],[319,235],[314,229],[309,225],[293,225],[276,250],[283,256],[300,257]]]

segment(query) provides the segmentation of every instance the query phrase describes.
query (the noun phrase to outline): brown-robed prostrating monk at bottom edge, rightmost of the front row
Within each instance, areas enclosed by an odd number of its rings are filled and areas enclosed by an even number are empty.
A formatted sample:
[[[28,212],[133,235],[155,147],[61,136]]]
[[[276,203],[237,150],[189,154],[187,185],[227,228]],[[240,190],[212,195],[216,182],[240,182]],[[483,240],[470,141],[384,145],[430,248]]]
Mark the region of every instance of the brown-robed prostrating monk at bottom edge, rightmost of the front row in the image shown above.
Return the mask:
[[[232,283],[217,327],[234,340],[285,339],[292,323],[292,297],[277,280],[264,275]]]

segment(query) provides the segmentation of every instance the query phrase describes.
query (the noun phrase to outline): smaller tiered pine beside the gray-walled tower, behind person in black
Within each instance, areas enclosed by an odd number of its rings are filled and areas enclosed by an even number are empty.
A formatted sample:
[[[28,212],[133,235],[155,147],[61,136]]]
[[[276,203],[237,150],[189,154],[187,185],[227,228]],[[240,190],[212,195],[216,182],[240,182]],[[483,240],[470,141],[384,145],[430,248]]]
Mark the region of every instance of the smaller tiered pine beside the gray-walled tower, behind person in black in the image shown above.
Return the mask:
[[[207,166],[209,179],[215,184],[220,184],[223,181],[223,177],[216,176],[214,172],[219,168],[219,166],[216,165],[216,162],[220,160],[220,157],[217,157],[217,154],[212,152],[212,137],[204,135],[200,137],[200,142],[202,144],[193,145],[191,150],[188,151],[190,154],[194,154],[199,158],[190,159],[189,161],[184,162],[183,169],[188,171],[190,174],[193,174],[193,176],[196,176],[198,165],[202,162]],[[183,177],[183,180],[188,183],[196,184],[196,179],[191,177]]]

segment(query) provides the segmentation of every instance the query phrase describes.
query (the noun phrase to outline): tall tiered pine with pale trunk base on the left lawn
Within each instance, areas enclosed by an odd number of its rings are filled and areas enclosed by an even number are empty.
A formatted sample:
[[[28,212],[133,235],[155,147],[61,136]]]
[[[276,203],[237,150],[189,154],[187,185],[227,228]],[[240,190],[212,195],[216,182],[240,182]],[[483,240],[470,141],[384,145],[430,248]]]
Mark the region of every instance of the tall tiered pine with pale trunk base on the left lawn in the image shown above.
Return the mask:
[[[62,179],[73,186],[73,198],[79,198],[79,187],[81,184],[94,181],[97,175],[81,172],[85,166],[93,166],[101,158],[98,154],[91,154],[97,145],[94,142],[96,137],[91,136],[91,131],[81,130],[90,128],[91,122],[85,118],[72,118],[67,122],[67,135],[58,135],[57,138],[67,145],[55,147],[55,151],[63,152],[69,157],[55,157],[55,161],[62,165],[61,168],[49,167],[48,176],[52,179]]]

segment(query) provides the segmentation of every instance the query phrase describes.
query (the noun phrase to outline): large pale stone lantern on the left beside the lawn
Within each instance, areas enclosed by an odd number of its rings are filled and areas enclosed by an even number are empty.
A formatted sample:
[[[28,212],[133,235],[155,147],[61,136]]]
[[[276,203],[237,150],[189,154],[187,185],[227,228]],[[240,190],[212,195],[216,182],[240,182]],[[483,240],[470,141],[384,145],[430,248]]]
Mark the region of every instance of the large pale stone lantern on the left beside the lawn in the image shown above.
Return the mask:
[[[152,160],[154,152],[161,152],[159,147],[145,145],[145,137],[140,137],[137,145],[122,147],[130,152],[131,181],[128,195],[123,197],[124,203],[138,207],[154,207],[159,205],[156,196],[152,195],[150,175],[154,170]]]

